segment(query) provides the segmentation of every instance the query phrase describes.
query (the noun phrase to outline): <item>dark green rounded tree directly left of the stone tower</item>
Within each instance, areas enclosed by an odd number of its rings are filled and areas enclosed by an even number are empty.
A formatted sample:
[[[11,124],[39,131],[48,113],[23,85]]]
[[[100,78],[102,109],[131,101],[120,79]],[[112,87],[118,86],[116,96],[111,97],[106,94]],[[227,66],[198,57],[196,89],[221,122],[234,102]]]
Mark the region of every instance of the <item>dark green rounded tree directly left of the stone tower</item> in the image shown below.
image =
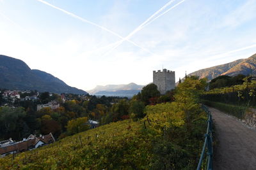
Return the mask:
[[[159,97],[160,92],[157,90],[157,86],[153,83],[143,87],[141,90],[141,101],[145,104],[149,104],[149,99],[152,97]]]

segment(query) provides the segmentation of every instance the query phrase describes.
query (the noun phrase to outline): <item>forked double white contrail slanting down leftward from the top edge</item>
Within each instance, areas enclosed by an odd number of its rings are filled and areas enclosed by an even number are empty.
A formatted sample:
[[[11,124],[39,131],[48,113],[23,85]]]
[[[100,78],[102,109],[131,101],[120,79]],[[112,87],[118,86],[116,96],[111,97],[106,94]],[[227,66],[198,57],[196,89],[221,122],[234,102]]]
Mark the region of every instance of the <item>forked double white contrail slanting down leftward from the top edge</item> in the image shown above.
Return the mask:
[[[154,20],[156,20],[157,18],[161,17],[162,15],[164,15],[165,13],[167,13],[168,11],[172,10],[173,8],[175,8],[176,6],[178,6],[181,3],[184,3],[185,0],[180,1],[179,3],[175,4],[174,6],[172,6],[170,9],[164,11],[164,13],[161,13],[160,15],[158,15],[156,17],[156,15],[158,13],[160,13],[161,11],[164,10],[164,8],[166,8],[167,6],[170,6],[170,4],[173,3],[173,1],[169,1],[167,4],[165,4],[162,8],[160,8],[160,10],[156,11],[153,15],[151,15],[147,20],[145,20],[145,22],[143,22],[141,25],[139,25],[136,29],[134,29],[134,31],[132,31],[128,36],[126,36],[124,39],[122,39],[120,41],[120,43],[118,43],[117,45],[113,46],[113,48],[111,48],[108,52],[104,53],[103,56],[108,55],[109,53],[111,53],[113,50],[115,50],[115,48],[117,48],[118,46],[120,46],[125,40],[128,40],[129,38],[131,38],[131,36],[133,36],[136,32],[140,31],[141,29],[143,29],[143,27],[145,27],[146,25],[150,24],[151,22],[153,22]],[[155,18],[154,18],[155,17]],[[154,19],[152,19],[154,18]],[[151,20],[152,19],[152,20]]]

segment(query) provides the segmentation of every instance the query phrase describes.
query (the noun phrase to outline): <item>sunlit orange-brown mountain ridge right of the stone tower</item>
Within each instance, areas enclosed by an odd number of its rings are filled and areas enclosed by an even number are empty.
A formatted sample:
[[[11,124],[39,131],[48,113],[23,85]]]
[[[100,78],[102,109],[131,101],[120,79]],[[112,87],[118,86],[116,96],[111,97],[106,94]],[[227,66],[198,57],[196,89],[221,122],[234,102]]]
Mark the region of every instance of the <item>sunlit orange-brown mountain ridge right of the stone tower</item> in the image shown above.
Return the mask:
[[[188,74],[188,76],[194,75],[199,76],[199,78],[206,77],[208,80],[212,80],[220,75],[236,76],[237,74],[256,75],[256,54],[248,59],[239,59],[227,64],[200,69]]]

